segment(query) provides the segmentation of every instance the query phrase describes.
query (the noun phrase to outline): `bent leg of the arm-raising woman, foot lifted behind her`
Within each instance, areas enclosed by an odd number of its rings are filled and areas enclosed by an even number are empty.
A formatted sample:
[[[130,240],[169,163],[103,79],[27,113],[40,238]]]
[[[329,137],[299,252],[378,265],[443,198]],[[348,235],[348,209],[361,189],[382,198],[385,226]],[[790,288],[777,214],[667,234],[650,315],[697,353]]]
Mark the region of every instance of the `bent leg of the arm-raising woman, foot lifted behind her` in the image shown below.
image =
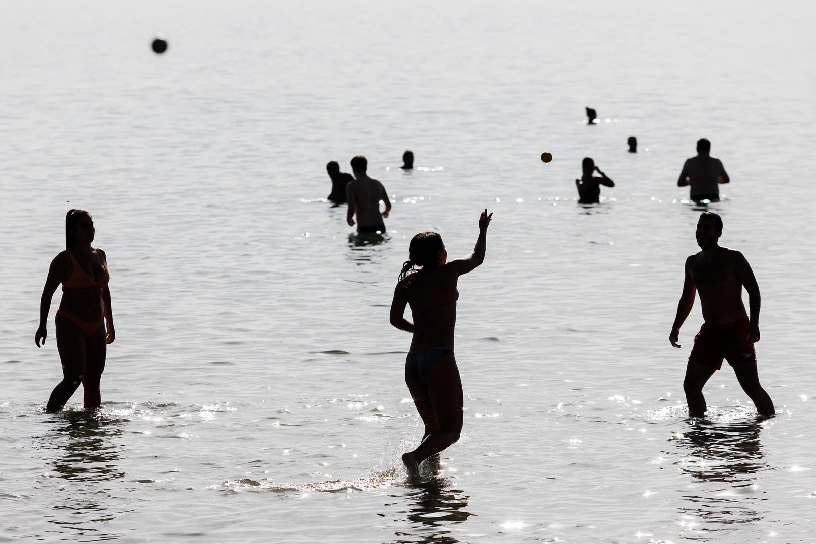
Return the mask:
[[[428,380],[428,398],[433,406],[437,429],[430,432],[417,449],[402,456],[409,475],[413,467],[418,468],[419,463],[459,440],[462,432],[464,398],[454,356],[441,356],[428,369],[425,378]]]

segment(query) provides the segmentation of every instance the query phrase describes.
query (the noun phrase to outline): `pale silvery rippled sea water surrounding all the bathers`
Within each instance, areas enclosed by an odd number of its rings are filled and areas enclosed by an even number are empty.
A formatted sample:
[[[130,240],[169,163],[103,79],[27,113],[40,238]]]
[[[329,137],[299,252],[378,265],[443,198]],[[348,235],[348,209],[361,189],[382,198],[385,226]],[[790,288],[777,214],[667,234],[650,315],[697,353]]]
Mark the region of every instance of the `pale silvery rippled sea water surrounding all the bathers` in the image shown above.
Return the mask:
[[[813,11],[4,7],[0,541],[813,542]],[[701,136],[733,180],[722,243],[762,290],[765,421],[727,367],[710,417],[685,418],[698,307],[667,342]],[[379,243],[322,200],[326,161],[356,153],[393,195]],[[598,206],[574,201],[585,156],[616,184]],[[118,339],[103,409],[43,414],[53,321],[33,334],[73,206]],[[393,285],[415,232],[465,254],[485,207],[487,259],[459,285],[463,439],[406,484],[421,431]]]

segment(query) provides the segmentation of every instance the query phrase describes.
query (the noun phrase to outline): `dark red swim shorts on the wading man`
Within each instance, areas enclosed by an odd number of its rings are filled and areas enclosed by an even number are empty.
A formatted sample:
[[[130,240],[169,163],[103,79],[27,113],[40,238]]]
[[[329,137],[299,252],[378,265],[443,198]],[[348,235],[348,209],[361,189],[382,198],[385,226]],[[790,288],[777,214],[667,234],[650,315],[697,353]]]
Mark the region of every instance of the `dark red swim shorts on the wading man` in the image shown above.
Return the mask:
[[[722,368],[724,358],[731,366],[749,362],[756,365],[754,343],[748,339],[748,323],[747,317],[725,325],[703,323],[694,337],[689,360],[716,366],[717,370]]]

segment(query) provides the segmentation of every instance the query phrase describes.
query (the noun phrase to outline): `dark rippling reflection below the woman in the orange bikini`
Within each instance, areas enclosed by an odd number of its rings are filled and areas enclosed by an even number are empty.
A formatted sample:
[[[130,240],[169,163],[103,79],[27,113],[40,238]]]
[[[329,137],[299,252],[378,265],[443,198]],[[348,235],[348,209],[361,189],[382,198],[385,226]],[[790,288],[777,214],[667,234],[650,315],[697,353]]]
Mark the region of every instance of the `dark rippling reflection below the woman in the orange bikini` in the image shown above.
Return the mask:
[[[88,537],[88,541],[121,537],[104,530],[104,524],[121,513],[113,511],[113,504],[122,498],[109,485],[125,477],[117,465],[121,459],[118,446],[111,440],[122,434],[121,420],[106,418],[100,410],[66,410],[48,423],[51,429],[34,437],[39,449],[54,454],[42,484],[63,492],[53,506],[54,514],[45,516],[48,523],[58,526],[58,533]]]

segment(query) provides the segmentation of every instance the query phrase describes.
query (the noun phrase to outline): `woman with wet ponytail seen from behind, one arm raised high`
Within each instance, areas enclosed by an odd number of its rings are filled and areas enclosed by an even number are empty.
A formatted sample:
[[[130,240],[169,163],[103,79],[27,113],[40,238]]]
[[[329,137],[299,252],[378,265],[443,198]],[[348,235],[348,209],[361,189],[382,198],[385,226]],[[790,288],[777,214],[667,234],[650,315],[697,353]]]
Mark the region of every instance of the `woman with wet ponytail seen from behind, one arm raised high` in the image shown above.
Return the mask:
[[[391,325],[414,334],[406,358],[406,384],[425,424],[422,443],[402,456],[410,478],[419,463],[459,440],[464,399],[454,357],[454,329],[459,276],[485,260],[487,226],[492,213],[479,217],[479,237],[473,253],[447,262],[445,244],[437,232],[419,232],[410,241],[408,260],[391,303]],[[410,305],[414,322],[404,317]]]

